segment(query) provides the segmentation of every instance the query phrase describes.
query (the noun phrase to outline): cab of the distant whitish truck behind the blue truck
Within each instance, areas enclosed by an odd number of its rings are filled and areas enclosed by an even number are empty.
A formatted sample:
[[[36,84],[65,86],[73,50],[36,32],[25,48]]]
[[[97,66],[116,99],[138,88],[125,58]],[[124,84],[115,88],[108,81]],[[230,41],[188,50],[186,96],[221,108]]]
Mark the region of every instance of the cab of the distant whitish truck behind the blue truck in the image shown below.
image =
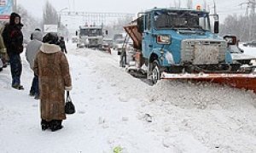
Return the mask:
[[[79,26],[78,48],[102,48],[103,26]]]

